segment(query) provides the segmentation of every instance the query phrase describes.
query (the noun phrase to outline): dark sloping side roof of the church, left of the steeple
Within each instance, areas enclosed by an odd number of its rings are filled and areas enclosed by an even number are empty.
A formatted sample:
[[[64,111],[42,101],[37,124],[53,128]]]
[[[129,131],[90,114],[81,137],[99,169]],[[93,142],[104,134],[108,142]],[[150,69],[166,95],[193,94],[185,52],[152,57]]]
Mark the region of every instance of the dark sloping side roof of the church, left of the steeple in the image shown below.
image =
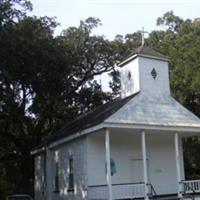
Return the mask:
[[[48,144],[52,141],[59,140],[63,137],[70,136],[74,133],[77,133],[78,131],[82,131],[85,129],[88,129],[90,127],[96,126],[105,119],[107,119],[109,116],[117,112],[121,107],[123,107],[127,102],[129,102],[131,99],[133,99],[136,95],[130,95],[124,99],[117,98],[115,100],[112,100],[108,103],[105,103],[93,111],[86,113],[85,115],[80,116],[76,120],[74,120],[72,123],[66,125],[62,129],[55,132],[51,137],[49,137],[45,144]]]

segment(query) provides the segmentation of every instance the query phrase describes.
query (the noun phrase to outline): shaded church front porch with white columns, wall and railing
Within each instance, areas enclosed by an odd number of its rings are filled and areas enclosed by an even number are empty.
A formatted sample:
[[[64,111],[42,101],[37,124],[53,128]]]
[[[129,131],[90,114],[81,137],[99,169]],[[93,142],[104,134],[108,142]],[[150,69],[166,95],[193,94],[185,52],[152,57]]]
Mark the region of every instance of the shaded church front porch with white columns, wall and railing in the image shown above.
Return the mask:
[[[181,197],[183,189],[190,194],[186,185],[193,182],[182,181],[184,136],[187,134],[127,128],[109,128],[88,135],[88,199]],[[111,160],[111,167],[106,160]]]

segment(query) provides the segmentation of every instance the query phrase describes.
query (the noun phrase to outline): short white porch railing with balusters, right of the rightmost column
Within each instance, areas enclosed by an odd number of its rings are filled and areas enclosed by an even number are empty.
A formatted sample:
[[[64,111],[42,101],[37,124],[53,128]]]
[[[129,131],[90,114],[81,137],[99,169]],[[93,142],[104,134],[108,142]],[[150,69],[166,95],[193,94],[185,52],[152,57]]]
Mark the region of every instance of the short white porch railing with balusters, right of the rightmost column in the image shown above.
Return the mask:
[[[200,180],[182,181],[185,194],[200,193]]]

